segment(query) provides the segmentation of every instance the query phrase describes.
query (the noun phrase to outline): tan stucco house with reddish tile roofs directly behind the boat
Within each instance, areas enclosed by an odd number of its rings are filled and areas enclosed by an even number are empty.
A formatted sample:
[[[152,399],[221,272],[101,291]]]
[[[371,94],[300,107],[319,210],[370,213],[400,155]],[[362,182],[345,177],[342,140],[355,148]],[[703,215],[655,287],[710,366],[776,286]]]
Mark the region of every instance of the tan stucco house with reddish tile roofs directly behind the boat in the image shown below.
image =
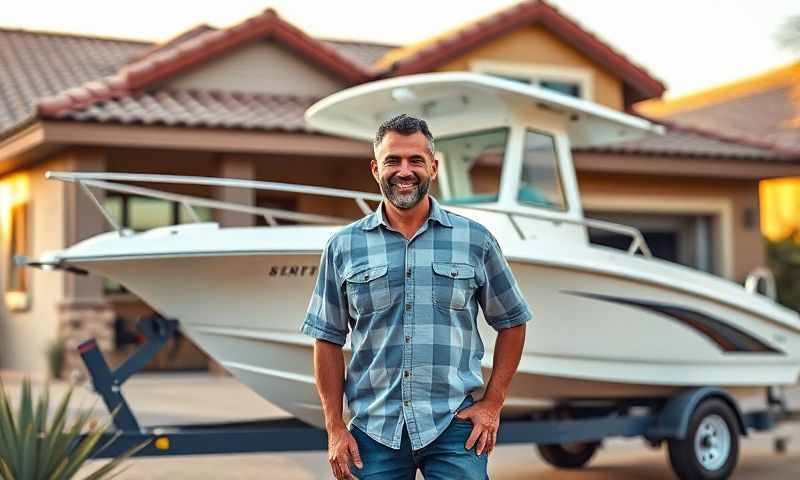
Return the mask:
[[[313,38],[270,9],[157,45],[0,30],[6,310],[0,368],[41,371],[43,352],[56,339],[72,351],[96,336],[106,352],[124,353],[118,344],[130,337],[128,326],[149,311],[101,279],[13,265],[14,255],[36,257],[107,228],[79,188],[45,180],[45,171],[157,172],[377,191],[367,170],[370,145],[310,130],[304,110],[373,79],[453,70],[538,84],[621,111],[665,90],[645,68],[544,1],[397,47]],[[663,137],[576,150],[584,210],[638,227],[656,256],[741,282],[764,263],[759,181],[797,175],[800,156],[736,135],[668,126]],[[497,171],[476,175],[492,185]],[[350,202],[301,194],[185,185],[172,191],[359,216]],[[189,221],[168,201],[101,192],[98,198],[129,228]],[[226,226],[262,221],[199,213]],[[596,243],[623,245],[621,237],[590,233]],[[175,348],[173,367],[205,366],[188,342]]]

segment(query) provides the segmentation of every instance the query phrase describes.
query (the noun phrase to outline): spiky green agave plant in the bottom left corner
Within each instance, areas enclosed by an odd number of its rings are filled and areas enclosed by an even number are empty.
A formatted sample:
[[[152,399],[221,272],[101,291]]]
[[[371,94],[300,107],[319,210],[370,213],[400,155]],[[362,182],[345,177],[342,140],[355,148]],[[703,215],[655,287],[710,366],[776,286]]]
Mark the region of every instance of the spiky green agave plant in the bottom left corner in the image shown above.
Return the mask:
[[[52,417],[48,418],[49,388],[45,387],[38,400],[34,401],[31,382],[26,379],[22,384],[15,416],[0,381],[0,480],[71,479],[89,459],[111,424],[98,425],[91,420],[91,410],[85,410],[67,427],[72,392],[73,387],[70,386]],[[98,451],[115,439],[112,436]],[[120,473],[117,470],[120,464],[145,445],[138,445],[108,461],[85,480],[108,478],[112,473]]]

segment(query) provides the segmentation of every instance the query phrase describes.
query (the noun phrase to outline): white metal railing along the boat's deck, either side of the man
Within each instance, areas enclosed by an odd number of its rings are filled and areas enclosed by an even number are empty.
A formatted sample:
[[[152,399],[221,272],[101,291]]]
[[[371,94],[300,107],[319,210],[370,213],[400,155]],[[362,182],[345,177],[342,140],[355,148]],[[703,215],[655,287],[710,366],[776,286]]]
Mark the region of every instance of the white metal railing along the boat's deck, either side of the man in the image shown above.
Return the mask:
[[[197,214],[194,207],[207,207],[218,210],[228,210],[241,213],[249,213],[253,215],[260,215],[264,218],[270,226],[277,225],[277,220],[291,220],[304,223],[317,223],[317,224],[346,224],[352,221],[349,218],[335,217],[329,215],[318,215],[313,213],[301,213],[291,210],[284,210],[279,208],[258,207],[253,205],[244,205],[241,203],[227,202],[223,200],[214,200],[210,198],[198,197],[194,195],[186,195],[179,193],[164,192],[152,188],[142,187],[139,185],[130,185],[128,183],[120,182],[137,182],[137,183],[168,183],[168,184],[188,184],[188,185],[207,185],[214,187],[231,187],[231,188],[250,188],[254,190],[267,190],[279,191],[287,193],[299,193],[307,195],[321,195],[326,197],[345,198],[353,200],[362,213],[372,213],[372,207],[367,202],[380,202],[383,197],[376,193],[369,192],[356,192],[352,190],[342,190],[337,188],[317,187],[311,185],[297,185],[291,183],[278,183],[278,182],[264,182],[260,180],[243,180],[233,178],[217,178],[217,177],[199,177],[190,175],[165,175],[165,174],[146,174],[146,173],[115,173],[115,172],[53,172],[48,171],[45,174],[48,179],[61,180],[64,182],[77,183],[81,190],[91,199],[92,203],[100,210],[103,217],[108,224],[120,235],[130,234],[129,230],[123,228],[122,225],[114,218],[111,213],[103,206],[98,200],[97,196],[90,190],[90,188],[97,188],[100,190],[108,190],[113,192],[127,193],[131,195],[140,195],[143,197],[156,198],[176,202],[186,210],[189,217],[194,222],[200,222],[200,216]],[[540,215],[534,212],[520,212],[509,209],[498,208],[483,208],[475,205],[459,205],[459,208],[466,208],[472,210],[481,210],[500,213],[508,216],[511,224],[516,229],[520,238],[526,240],[528,237],[524,234],[519,227],[517,218],[533,218],[537,220],[549,221],[555,225],[561,223],[582,225],[589,228],[597,228],[600,230],[609,231],[629,236],[631,243],[627,249],[628,254],[635,255],[636,252],[641,253],[646,257],[652,257],[652,253],[647,246],[642,233],[635,227],[629,225],[622,225],[604,220],[595,220],[591,218],[571,219],[571,218],[552,218],[547,215]]]

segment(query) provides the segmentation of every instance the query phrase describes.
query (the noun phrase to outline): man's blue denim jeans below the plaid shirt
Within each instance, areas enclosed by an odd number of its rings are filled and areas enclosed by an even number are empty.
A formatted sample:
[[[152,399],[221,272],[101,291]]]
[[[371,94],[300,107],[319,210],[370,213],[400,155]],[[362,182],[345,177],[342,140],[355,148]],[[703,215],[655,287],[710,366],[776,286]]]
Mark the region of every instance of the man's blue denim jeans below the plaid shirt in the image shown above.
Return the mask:
[[[472,422],[454,417],[450,425],[436,440],[419,450],[411,450],[408,431],[403,426],[400,450],[389,448],[353,426],[353,437],[358,443],[358,451],[364,468],[351,464],[353,474],[359,480],[413,480],[417,469],[422,471],[425,480],[488,480],[486,471],[489,455],[484,452],[478,456],[475,447],[464,448]]]

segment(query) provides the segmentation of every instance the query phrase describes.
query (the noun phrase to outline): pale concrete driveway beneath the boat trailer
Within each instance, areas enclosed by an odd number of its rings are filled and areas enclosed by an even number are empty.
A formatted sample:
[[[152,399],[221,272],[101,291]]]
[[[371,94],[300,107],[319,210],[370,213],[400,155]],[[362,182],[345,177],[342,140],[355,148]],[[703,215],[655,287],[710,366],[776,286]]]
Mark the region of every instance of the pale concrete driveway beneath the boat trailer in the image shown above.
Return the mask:
[[[4,378],[7,388],[19,388],[15,378]],[[64,383],[52,388],[59,398]],[[133,377],[123,387],[131,408],[143,425],[190,424],[286,416],[286,413],[252,393],[230,377],[206,374],[144,374]],[[77,390],[90,405],[96,396],[84,388]],[[800,389],[790,392],[790,400],[800,407]],[[98,404],[102,411],[102,404]],[[772,451],[776,434],[793,439],[787,454]],[[100,462],[87,465],[85,472]],[[641,440],[613,440],[605,444],[589,465],[580,471],[557,471],[539,460],[532,445],[499,446],[489,459],[492,479],[672,479],[665,449],[652,450]],[[79,477],[80,478],[80,477]],[[141,458],[128,462],[125,473],[117,477],[134,479],[253,479],[276,478],[306,480],[332,478],[324,452],[206,455],[172,458]],[[419,476],[418,478],[422,478]],[[796,480],[800,478],[800,424],[785,425],[776,432],[752,435],[742,442],[742,457],[736,479]]]

